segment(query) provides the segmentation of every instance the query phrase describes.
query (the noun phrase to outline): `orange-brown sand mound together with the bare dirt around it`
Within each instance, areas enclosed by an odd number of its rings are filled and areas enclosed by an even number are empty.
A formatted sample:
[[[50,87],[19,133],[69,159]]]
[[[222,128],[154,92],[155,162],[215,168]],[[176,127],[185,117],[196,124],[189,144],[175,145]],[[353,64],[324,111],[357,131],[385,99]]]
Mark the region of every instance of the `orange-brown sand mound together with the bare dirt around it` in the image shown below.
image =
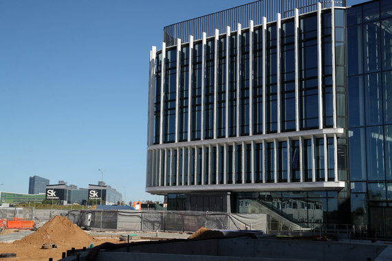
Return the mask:
[[[41,249],[43,244],[48,244],[49,240],[46,232],[50,236],[50,242],[56,244],[57,248]],[[74,247],[75,249],[82,249],[89,247],[93,242],[94,246],[100,245],[104,242],[120,243],[118,238],[94,238],[89,236],[85,231],[74,225],[68,218],[63,216],[55,216],[35,231],[34,233],[25,236],[21,240],[14,241],[10,244],[0,243],[0,253],[16,253],[16,258],[7,258],[4,260],[53,260],[61,259],[61,254]],[[0,258],[3,260],[3,258]]]

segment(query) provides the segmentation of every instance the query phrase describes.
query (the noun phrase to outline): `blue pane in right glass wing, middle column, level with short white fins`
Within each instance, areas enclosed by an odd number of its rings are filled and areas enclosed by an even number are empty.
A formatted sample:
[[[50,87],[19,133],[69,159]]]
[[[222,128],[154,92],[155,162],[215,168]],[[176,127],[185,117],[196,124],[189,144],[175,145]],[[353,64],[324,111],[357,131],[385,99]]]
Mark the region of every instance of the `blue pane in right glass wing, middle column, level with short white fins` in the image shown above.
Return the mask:
[[[366,128],[367,179],[384,180],[384,131],[382,126]]]

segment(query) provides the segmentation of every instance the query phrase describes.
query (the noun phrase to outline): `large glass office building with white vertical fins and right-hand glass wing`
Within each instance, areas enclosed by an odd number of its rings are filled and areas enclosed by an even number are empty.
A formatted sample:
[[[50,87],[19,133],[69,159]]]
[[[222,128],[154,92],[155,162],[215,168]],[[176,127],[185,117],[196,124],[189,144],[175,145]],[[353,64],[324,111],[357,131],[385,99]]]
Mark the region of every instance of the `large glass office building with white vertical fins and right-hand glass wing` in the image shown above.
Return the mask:
[[[272,1],[164,28],[146,192],[392,236],[392,1]]]

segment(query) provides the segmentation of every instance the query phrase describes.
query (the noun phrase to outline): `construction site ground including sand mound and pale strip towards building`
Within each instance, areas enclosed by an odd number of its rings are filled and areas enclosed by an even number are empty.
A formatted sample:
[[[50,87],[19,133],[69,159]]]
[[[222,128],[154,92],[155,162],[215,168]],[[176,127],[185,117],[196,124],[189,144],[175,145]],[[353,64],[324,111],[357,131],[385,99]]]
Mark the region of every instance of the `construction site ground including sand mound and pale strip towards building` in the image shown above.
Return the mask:
[[[47,232],[47,234],[46,234]],[[49,235],[49,237],[47,236]],[[83,249],[91,242],[100,245],[104,242],[123,243],[120,237],[130,236],[130,242],[143,240],[165,240],[188,238],[188,233],[142,232],[142,231],[89,231],[71,223],[67,218],[56,216],[37,231],[6,229],[0,234],[0,253],[16,253],[16,258],[4,260],[59,260],[62,253],[74,247]],[[126,237],[127,238],[127,237]],[[41,249],[42,245],[55,244],[52,249]],[[3,260],[3,258],[0,258]]]

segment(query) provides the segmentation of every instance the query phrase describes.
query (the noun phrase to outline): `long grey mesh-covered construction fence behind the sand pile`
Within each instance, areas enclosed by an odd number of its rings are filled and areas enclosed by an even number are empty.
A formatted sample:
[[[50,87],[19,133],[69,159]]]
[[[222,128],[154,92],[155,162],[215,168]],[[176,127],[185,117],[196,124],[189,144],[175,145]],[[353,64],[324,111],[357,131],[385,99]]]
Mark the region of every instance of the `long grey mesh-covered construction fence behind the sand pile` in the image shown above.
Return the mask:
[[[208,229],[267,229],[266,214],[228,214],[222,212],[113,211],[100,209],[3,208],[0,219],[23,218],[45,223],[54,216],[67,216],[79,227],[105,231],[196,231]]]

